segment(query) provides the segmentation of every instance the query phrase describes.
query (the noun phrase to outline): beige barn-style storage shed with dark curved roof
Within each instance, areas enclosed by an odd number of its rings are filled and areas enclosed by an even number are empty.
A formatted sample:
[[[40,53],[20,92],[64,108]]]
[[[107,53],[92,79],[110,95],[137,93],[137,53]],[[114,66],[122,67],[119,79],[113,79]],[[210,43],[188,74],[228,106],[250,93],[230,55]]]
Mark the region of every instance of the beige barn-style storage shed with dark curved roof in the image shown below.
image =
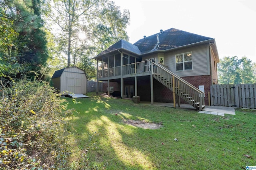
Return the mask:
[[[65,94],[86,94],[87,93],[87,77],[84,70],[72,66],[66,67],[54,72],[52,76],[54,88],[60,92],[68,91]]]

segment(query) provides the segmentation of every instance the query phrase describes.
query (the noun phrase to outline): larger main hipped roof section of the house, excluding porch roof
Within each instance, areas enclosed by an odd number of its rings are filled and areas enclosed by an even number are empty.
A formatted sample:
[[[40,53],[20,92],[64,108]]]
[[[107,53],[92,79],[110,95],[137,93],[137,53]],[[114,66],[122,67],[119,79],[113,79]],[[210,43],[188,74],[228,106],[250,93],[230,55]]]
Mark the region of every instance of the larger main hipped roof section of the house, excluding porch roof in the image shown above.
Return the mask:
[[[157,43],[157,35],[159,43]],[[146,37],[145,39],[140,39],[134,43],[134,45],[136,45],[138,49],[140,49],[141,53],[144,54],[156,50],[167,50],[182,47],[184,45],[190,45],[210,39],[212,38],[171,28],[163,31],[162,33],[156,33]]]

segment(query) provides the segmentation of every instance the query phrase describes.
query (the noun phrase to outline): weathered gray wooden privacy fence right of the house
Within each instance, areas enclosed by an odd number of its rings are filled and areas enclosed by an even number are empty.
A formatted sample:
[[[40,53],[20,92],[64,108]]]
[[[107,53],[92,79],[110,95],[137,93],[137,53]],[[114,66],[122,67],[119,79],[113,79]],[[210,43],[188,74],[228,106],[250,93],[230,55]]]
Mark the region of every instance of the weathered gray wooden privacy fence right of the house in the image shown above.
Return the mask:
[[[256,109],[255,84],[214,84],[211,86],[211,106]]]

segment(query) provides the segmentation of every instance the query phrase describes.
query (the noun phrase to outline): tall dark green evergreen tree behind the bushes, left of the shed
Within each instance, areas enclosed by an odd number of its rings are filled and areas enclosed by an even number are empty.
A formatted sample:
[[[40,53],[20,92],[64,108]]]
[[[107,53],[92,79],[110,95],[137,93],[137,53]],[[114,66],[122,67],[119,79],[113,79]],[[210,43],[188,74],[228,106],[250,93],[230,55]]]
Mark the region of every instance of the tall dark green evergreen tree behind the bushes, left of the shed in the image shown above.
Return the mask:
[[[40,0],[24,1],[24,7],[17,8],[20,12],[18,16],[23,18],[24,25],[19,27],[18,55],[19,63],[23,66],[20,75],[24,73],[32,76],[28,72],[33,71],[42,78],[40,70],[46,66],[48,59],[46,33],[44,31],[44,21],[40,13]]]

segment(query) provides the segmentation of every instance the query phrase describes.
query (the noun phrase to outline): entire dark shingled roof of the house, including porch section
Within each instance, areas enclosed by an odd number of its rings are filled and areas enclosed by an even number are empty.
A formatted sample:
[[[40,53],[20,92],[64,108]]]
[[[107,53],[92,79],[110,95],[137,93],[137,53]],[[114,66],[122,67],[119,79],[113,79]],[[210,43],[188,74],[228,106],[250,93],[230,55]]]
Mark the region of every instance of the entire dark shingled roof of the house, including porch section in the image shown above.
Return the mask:
[[[159,43],[157,39],[159,38]],[[197,35],[194,33],[189,33],[175,28],[170,28],[162,33],[158,32],[154,35],[150,35],[144,39],[138,40],[136,43],[131,44],[123,39],[102,51],[95,58],[118,50],[126,50],[137,55],[143,55],[145,53],[150,53],[159,50],[170,50],[177,47],[182,47],[186,45],[192,45],[194,43],[200,43],[204,41],[212,41],[213,38],[204,37],[202,35]]]

